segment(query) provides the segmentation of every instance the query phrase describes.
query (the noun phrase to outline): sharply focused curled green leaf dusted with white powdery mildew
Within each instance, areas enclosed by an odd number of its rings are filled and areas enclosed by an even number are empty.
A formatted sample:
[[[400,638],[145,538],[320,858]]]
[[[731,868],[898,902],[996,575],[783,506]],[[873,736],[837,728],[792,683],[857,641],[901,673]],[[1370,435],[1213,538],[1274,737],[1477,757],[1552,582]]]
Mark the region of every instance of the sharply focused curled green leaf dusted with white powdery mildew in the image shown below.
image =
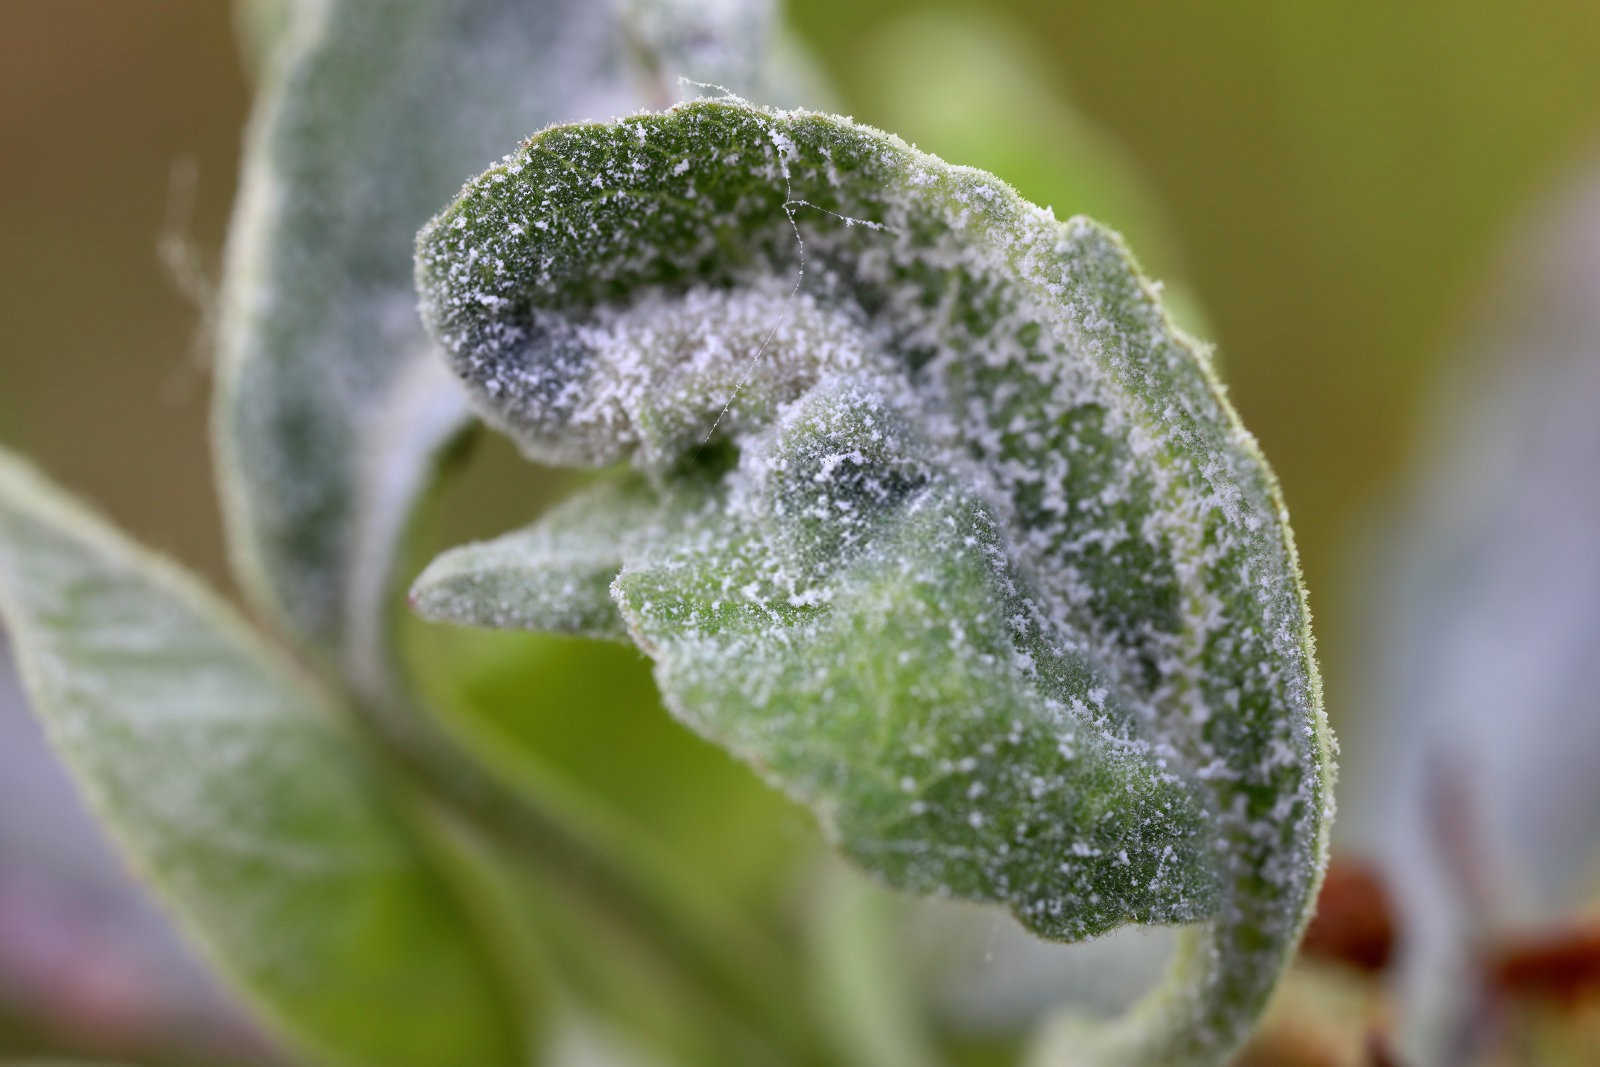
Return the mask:
[[[677,715],[893,885],[1058,939],[1203,923],[1160,1024],[1077,1056],[1237,1045],[1314,899],[1331,739],[1277,488],[1115,235],[707,101],[528,139],[418,283],[530,456],[627,459],[680,510],[714,478],[686,523],[592,528]]]

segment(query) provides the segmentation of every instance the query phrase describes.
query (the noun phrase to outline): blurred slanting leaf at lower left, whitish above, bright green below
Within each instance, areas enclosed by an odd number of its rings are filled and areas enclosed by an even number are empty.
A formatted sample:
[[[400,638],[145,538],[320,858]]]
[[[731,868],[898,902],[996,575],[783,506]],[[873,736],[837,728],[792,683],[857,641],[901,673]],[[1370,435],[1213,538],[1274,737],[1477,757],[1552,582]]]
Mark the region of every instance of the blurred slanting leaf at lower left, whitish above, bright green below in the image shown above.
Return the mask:
[[[341,1064],[522,1062],[478,931],[330,697],[6,456],[0,614],[112,837],[298,1043]]]

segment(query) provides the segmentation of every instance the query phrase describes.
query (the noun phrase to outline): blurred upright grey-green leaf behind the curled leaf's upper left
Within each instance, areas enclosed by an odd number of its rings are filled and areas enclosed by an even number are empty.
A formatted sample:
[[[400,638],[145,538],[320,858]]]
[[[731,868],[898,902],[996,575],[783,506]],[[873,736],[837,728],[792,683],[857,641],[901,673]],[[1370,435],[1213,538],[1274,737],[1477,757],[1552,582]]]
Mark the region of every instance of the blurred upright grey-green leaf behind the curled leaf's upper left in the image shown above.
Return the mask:
[[[669,102],[677,70],[765,85],[771,11],[253,0],[240,19],[270,62],[222,294],[229,542],[258,603],[386,694],[395,542],[467,414],[416,320],[411,235],[528,130]]]

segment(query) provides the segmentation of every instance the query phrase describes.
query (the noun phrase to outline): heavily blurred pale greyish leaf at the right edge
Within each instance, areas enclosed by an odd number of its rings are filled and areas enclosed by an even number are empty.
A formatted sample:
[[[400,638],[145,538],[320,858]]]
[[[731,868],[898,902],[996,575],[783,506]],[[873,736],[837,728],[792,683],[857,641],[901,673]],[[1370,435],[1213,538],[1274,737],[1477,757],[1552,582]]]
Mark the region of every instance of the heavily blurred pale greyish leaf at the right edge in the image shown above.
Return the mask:
[[[1424,1064],[1530,1040],[1507,1003],[1530,952],[1600,953],[1600,168],[1504,275],[1371,536],[1350,672],[1344,840],[1395,889],[1398,1041]]]

